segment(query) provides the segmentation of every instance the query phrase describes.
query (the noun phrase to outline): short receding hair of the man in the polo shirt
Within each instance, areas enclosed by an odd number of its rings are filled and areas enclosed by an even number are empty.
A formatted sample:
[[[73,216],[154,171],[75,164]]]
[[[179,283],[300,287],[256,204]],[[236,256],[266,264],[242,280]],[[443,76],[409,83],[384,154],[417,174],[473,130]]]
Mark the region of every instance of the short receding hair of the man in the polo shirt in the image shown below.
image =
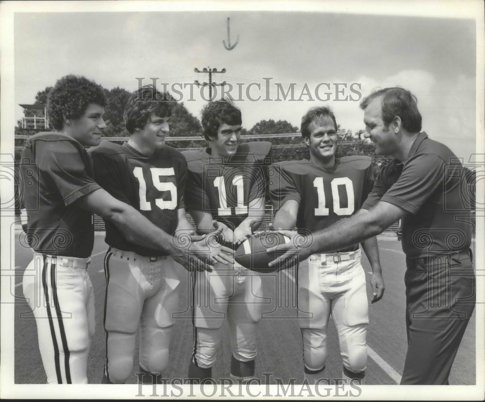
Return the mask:
[[[410,133],[421,131],[422,117],[418,110],[418,98],[401,87],[384,88],[372,92],[362,99],[360,108],[365,110],[373,99],[382,96],[382,121],[388,126],[394,117],[399,116],[403,127]]]

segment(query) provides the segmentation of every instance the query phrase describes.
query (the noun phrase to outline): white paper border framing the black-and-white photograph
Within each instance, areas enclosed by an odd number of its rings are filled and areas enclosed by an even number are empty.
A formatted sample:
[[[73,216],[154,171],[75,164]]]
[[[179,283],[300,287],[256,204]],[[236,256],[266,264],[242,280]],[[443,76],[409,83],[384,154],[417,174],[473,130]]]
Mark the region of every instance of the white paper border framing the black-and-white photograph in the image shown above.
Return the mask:
[[[440,0],[440,1],[2,1],[0,3],[0,74],[1,74],[1,120],[0,120],[0,154],[13,155],[13,116],[14,96],[14,14],[20,12],[120,12],[120,11],[278,11],[278,12],[338,12],[362,15],[408,15],[436,18],[470,18],[476,23],[476,146],[477,155],[483,159],[485,154],[484,129],[484,7],[480,0]],[[1,160],[0,163],[4,161]],[[8,161],[7,161],[8,163]],[[477,204],[484,205],[484,181],[477,183]],[[12,194],[12,188],[1,188],[1,194]],[[0,196],[0,198],[3,198]],[[477,216],[476,244],[485,244],[484,216]],[[1,238],[11,238],[14,228],[14,217],[1,215]],[[9,279],[8,266],[12,245],[1,242],[2,279]],[[476,318],[476,378],[477,386],[365,386],[363,392],[355,399],[374,400],[483,400],[485,393],[485,342],[484,326],[484,248],[476,247],[477,258],[477,305]],[[15,269],[15,267],[14,267]],[[5,276],[4,276],[5,275]],[[126,399],[127,395],[138,393],[137,385],[104,386],[104,385],[26,385],[14,384],[14,305],[10,294],[10,280],[1,280],[1,362],[0,362],[0,397],[24,399]],[[37,347],[37,345],[32,345]],[[253,394],[260,392],[264,397],[268,386],[253,386]],[[269,386],[274,393],[276,386]],[[260,388],[260,389],[258,389]],[[144,389],[146,389],[144,387]],[[194,388],[195,389],[195,388]],[[178,393],[178,391],[176,390]],[[237,390],[234,390],[237,393]],[[150,395],[150,392],[146,392]],[[149,396],[148,396],[149,397]],[[139,397],[141,398],[141,397]],[[199,394],[200,399],[204,398]],[[133,398],[136,399],[136,398]],[[187,394],[182,399],[195,399]],[[234,398],[243,399],[243,398]],[[283,399],[283,398],[276,398]],[[308,399],[306,397],[291,399]],[[334,399],[328,397],[326,399]],[[336,399],[342,399],[338,397]]]

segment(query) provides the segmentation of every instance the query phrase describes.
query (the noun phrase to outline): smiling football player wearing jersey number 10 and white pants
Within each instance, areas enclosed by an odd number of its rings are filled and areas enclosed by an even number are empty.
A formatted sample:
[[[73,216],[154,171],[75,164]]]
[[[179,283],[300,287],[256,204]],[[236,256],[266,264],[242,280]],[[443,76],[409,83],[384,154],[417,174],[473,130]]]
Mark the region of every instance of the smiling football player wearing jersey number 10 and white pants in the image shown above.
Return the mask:
[[[310,160],[278,162],[270,167],[273,226],[299,233],[323,230],[354,214],[372,189],[368,156],[336,158],[337,123],[329,108],[312,108],[302,118],[301,133]],[[362,242],[372,267],[372,303],[384,292],[377,240]],[[303,245],[304,247],[304,245]],[[365,273],[358,244],[310,255],[297,270],[298,323],[303,336],[304,375],[309,384],[325,377],[330,315],[339,335],[342,378],[363,384],[369,324]],[[307,266],[306,266],[307,264]]]

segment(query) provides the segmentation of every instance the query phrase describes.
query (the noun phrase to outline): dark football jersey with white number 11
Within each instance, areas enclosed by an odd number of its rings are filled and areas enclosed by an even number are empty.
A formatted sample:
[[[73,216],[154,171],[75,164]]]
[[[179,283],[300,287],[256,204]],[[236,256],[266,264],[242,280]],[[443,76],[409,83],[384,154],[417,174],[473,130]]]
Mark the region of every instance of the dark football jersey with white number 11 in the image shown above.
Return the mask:
[[[271,143],[242,143],[224,163],[210,156],[210,148],[185,151],[189,168],[187,209],[207,212],[230,229],[248,216],[251,201],[266,195],[266,170],[271,164]]]

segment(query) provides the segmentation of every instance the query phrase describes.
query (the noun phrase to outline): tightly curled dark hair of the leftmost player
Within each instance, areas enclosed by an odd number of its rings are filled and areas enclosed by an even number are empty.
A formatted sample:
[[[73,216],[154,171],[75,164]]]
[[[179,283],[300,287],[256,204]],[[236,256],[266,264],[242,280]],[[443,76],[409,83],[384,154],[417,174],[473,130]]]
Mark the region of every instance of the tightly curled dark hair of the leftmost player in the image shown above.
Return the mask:
[[[82,76],[62,77],[47,97],[49,121],[56,130],[61,130],[65,120],[79,119],[91,103],[103,108],[108,103],[100,85]]]

